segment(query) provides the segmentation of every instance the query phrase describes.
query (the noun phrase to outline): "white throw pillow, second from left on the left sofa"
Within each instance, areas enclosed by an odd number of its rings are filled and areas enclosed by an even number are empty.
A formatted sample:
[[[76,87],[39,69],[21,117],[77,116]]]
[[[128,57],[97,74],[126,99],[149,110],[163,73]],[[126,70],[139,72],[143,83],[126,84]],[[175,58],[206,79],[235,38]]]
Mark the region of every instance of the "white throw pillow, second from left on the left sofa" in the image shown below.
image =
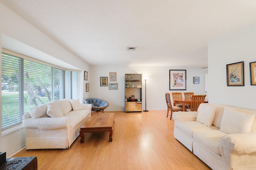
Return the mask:
[[[47,115],[50,117],[63,117],[63,112],[58,101],[51,101],[47,105]]]

